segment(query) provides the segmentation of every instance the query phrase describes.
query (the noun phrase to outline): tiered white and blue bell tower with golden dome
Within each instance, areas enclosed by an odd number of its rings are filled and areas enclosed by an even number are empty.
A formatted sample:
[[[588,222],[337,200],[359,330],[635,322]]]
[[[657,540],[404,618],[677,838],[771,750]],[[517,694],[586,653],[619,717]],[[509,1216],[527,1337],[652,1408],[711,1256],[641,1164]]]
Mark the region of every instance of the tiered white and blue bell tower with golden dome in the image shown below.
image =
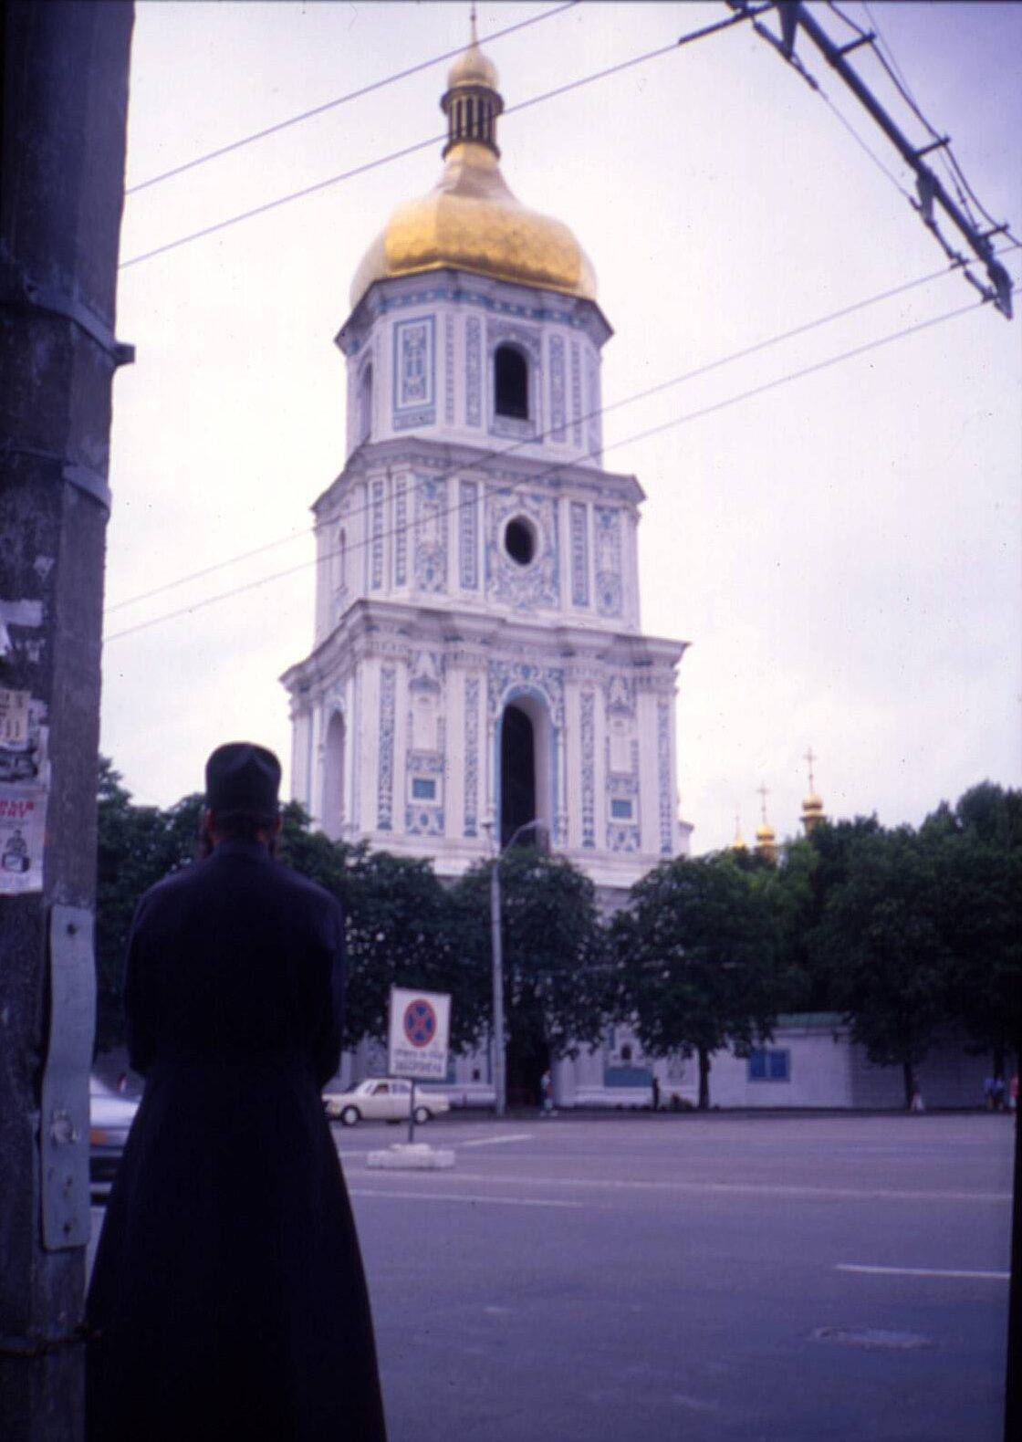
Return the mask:
[[[500,170],[473,20],[444,169],[399,205],[337,346],[347,459],[316,500],[314,646],[284,676],[293,792],[327,833],[457,875],[529,820],[601,887],[688,849],[676,669],[641,633],[641,487],[601,456],[592,267]]]

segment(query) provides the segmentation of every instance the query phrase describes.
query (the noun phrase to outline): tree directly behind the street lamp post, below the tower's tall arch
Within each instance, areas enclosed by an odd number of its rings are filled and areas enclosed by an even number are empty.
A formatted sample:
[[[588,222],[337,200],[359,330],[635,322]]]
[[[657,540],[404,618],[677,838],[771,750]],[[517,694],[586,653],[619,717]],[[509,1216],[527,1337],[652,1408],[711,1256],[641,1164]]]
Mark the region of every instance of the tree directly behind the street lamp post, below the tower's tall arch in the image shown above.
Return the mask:
[[[468,960],[481,1022],[490,1018],[490,867],[453,888],[458,945]],[[605,970],[595,888],[562,857],[512,846],[499,861],[509,1096],[533,1099],[555,1057],[595,1044],[607,1024]]]

